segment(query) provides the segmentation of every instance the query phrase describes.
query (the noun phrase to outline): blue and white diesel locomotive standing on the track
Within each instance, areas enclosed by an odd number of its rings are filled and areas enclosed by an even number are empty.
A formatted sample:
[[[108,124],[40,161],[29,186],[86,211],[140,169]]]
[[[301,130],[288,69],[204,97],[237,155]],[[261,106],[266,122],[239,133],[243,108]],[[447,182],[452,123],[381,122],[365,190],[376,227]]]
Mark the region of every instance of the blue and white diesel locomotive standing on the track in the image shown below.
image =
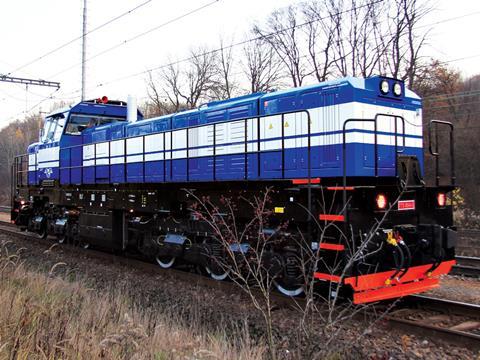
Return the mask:
[[[368,245],[374,255],[346,277],[315,269],[319,283],[344,283],[356,303],[437,286],[453,265],[453,184],[423,180],[422,103],[402,81],[344,78],[151,119],[126,105],[103,98],[46,117],[39,141],[15,160],[17,225],[60,241],[133,247],[162,267],[183,259],[224,279],[205,255],[221,256],[215,236],[193,216],[185,189],[215,201],[268,186],[271,228],[284,244],[271,249],[280,264],[275,283],[285,294],[303,286],[289,261],[291,228],[305,231],[325,259],[352,247],[334,233],[319,242],[311,214],[316,223],[338,222],[355,243],[388,212]],[[286,223],[289,231],[280,231]]]

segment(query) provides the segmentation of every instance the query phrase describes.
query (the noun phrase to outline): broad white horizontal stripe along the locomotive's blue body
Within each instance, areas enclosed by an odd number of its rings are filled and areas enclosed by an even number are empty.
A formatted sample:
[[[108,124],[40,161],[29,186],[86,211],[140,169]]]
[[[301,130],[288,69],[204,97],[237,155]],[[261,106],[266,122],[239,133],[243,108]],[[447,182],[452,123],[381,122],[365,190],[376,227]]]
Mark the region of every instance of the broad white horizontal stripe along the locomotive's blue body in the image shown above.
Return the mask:
[[[350,118],[363,118],[371,119],[375,117],[377,113],[391,113],[397,116],[403,116],[405,118],[405,133],[421,135],[421,111],[409,111],[402,109],[393,109],[389,107],[377,106],[374,104],[362,104],[362,103],[347,103],[340,105],[332,105],[326,107],[319,107],[315,109],[309,109],[310,113],[310,132],[338,132],[343,129],[343,124],[346,119]],[[260,121],[260,126],[258,126]],[[212,156],[215,152],[217,155],[227,154],[242,154],[245,151],[245,133],[249,141],[256,141],[258,139],[258,127],[260,128],[260,151],[278,151],[282,149],[281,140],[268,140],[272,138],[279,138],[282,135],[292,137],[294,139],[285,139],[285,149],[294,149],[308,146],[308,116],[306,112],[298,112],[285,114],[282,122],[280,115],[261,117],[260,119],[253,118],[246,121],[247,129],[245,132],[245,120],[235,120],[228,123],[217,123],[215,127],[213,125],[204,125],[200,127],[167,131],[165,134],[152,134],[143,137],[128,138],[126,140],[114,140],[111,142],[103,142],[97,144],[89,144],[83,146],[83,159],[84,165],[93,165],[93,162],[89,160],[94,159],[96,153],[97,165],[110,164],[123,164],[124,163],[124,149],[127,149],[127,163],[141,162],[145,158],[145,161],[161,161],[170,159],[185,159],[187,157],[187,131],[188,131],[188,145],[189,147],[201,146],[201,149],[188,150],[188,157],[205,157]],[[283,128],[282,128],[283,126]],[[215,134],[214,134],[215,128]],[[364,143],[374,144],[375,136],[372,133],[362,133],[360,131],[351,131],[352,129],[358,130],[373,130],[373,123],[369,122],[352,122],[347,125],[347,130],[350,132],[346,135],[347,143]],[[377,130],[383,132],[394,132],[395,121],[392,117],[379,116],[377,120]],[[397,120],[397,132],[403,133],[403,123]],[[299,136],[302,136],[299,138]],[[214,139],[215,137],[215,139]],[[265,141],[267,139],[267,141]],[[216,149],[213,149],[213,143],[217,144]],[[235,145],[224,145],[235,142]],[[402,147],[421,148],[423,141],[420,138],[405,138],[403,140],[401,135],[397,136],[397,146]],[[343,135],[341,133],[328,134],[328,135],[315,135],[310,137],[311,146],[326,146],[326,145],[339,145],[343,143]],[[377,143],[379,145],[395,144],[394,135],[377,135]],[[143,156],[145,144],[145,151],[153,152],[145,154]],[[204,147],[208,146],[208,147]],[[165,150],[165,153],[161,151]],[[256,152],[258,150],[258,144],[252,142],[247,144],[248,152]],[[58,160],[59,148],[41,149],[39,155],[42,153],[43,158],[52,160]],[[135,155],[133,155],[135,154]],[[110,157],[108,159],[98,159],[99,157]],[[114,157],[120,156],[120,157]],[[56,158],[55,158],[56,157]],[[39,161],[42,159],[38,158]],[[34,168],[35,156],[29,155],[29,165]],[[58,161],[52,164],[58,164]],[[52,165],[47,163],[46,165],[40,165],[39,167],[51,167]],[[58,166],[58,165],[57,165]],[[30,169],[30,168],[29,168]]]

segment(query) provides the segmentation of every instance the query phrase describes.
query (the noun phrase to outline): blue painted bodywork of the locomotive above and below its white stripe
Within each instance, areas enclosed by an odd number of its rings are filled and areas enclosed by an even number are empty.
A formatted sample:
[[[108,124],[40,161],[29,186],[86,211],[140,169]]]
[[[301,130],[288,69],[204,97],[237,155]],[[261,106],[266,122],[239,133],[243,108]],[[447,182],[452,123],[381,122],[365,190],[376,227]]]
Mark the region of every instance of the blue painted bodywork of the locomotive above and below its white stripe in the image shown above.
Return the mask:
[[[142,120],[135,123],[114,123],[86,129],[81,136],[63,135],[60,146],[60,167],[52,169],[49,178],[60,179],[62,185],[67,184],[108,184],[108,183],[159,183],[159,182],[205,182],[205,181],[241,181],[241,180],[275,180],[310,177],[343,176],[342,144],[325,144],[265,151],[240,151],[227,155],[195,156],[174,158],[175,152],[185,154],[193,150],[211,148],[212,146],[189,145],[188,148],[170,148],[166,151],[145,152],[145,136],[175,132],[196,126],[218,124],[228,121],[250,119],[274,114],[299,112],[326,106],[364,103],[388,107],[393,112],[400,110],[418,111],[421,101],[413,93],[409,97],[396,98],[379,96],[380,78],[357,79],[345,78],[312,86],[289,89],[269,94],[252,94],[236,99],[211,102],[195,110],[173,115]],[[402,84],[403,86],[403,84]],[[402,89],[404,89],[402,87]],[[111,109],[110,109],[111,108]],[[124,107],[109,107],[81,103],[74,106],[71,112],[85,114],[102,114],[109,116],[125,116]],[[283,121],[283,120],[282,120]],[[245,124],[246,121],[245,121]],[[283,124],[283,123],[282,123]],[[260,126],[260,125],[258,125]],[[245,129],[246,129],[245,125]],[[247,130],[245,130],[246,133]],[[357,128],[348,132],[371,134],[372,131]],[[188,134],[188,132],[187,132]],[[310,136],[329,136],[342,134],[342,130],[327,133],[311,133]],[[378,135],[392,136],[391,133],[377,132]],[[258,134],[257,134],[258,135]],[[170,135],[171,136],[171,135]],[[215,135],[216,136],[216,135]],[[307,136],[308,137],[308,136]],[[419,135],[406,134],[410,139],[422,139]],[[100,144],[121,139],[140,138],[143,145],[138,152],[112,155],[111,143],[108,154],[98,156],[89,165],[85,165],[81,145]],[[256,144],[289,140],[297,141],[305,135],[280,136],[249,140],[245,138],[223,142],[221,146]],[[123,140],[121,140],[123,141]],[[164,140],[166,141],[166,140]],[[187,135],[188,143],[188,135]],[[126,144],[126,141],[123,141]],[[53,144],[50,144],[52,146]],[[57,144],[58,145],[58,144]],[[165,145],[165,144],[164,144]],[[36,153],[45,144],[31,146],[29,153]],[[217,144],[217,147],[219,144]],[[403,147],[403,145],[402,145]],[[96,152],[96,145],[93,145]],[[143,149],[143,150],[142,150]],[[423,149],[421,147],[404,147],[404,154],[415,155],[423,169]],[[214,150],[215,151],[215,148]],[[347,176],[375,176],[375,147],[371,143],[347,143]],[[392,145],[378,145],[378,176],[395,176],[395,148]],[[128,156],[136,156],[134,162],[127,161]],[[156,156],[154,160],[145,161],[147,156]],[[116,161],[121,163],[115,163]],[[82,166],[82,164],[84,166]],[[42,171],[29,171],[29,183],[34,185],[46,178]]]

